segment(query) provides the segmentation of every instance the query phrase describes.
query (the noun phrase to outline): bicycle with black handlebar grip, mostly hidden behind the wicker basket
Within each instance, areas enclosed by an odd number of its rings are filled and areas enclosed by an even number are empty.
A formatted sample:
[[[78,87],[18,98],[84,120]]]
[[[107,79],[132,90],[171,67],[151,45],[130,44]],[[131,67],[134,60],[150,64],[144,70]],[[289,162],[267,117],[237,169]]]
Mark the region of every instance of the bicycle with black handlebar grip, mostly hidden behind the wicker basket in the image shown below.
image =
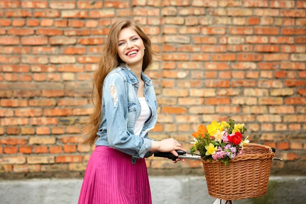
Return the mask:
[[[271,150],[275,153],[275,148],[271,148]],[[162,158],[168,158],[172,161],[175,161],[176,159],[189,159],[189,160],[197,160],[200,161],[201,160],[201,156],[197,155],[197,154],[193,154],[191,155],[190,153],[186,152],[186,151],[182,151],[182,150],[176,150],[177,154],[179,156],[174,156],[172,153],[170,152],[160,152],[160,151],[155,151],[154,152],[154,157],[162,157]],[[274,157],[272,159],[272,162],[274,160],[277,161],[281,161],[283,162],[282,159],[280,158],[276,158]],[[215,202],[213,204],[233,204],[232,200],[221,200],[221,199],[216,199]]]

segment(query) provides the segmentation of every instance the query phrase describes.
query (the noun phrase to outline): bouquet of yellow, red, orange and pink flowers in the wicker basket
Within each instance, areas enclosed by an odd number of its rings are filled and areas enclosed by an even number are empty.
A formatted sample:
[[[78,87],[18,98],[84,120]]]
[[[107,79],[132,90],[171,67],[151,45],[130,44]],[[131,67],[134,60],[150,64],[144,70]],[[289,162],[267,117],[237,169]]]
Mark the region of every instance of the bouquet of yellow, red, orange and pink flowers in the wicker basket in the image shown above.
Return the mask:
[[[235,124],[233,119],[228,122],[214,120],[207,128],[201,124],[198,131],[191,134],[194,139],[190,152],[199,151],[203,160],[221,161],[227,166],[228,161],[241,155],[243,146],[249,143],[248,136],[242,140],[246,131],[244,124]]]

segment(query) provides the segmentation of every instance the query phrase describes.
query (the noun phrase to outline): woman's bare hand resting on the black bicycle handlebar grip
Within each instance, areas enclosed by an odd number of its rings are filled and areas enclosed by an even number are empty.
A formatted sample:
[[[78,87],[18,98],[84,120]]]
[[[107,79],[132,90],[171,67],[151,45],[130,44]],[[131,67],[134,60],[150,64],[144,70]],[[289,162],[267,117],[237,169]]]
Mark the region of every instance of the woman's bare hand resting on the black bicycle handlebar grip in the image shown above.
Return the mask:
[[[150,150],[157,150],[161,152],[171,152],[174,156],[179,156],[175,150],[182,150],[186,151],[183,149],[182,144],[174,140],[173,138],[169,139],[164,139],[162,141],[152,141],[152,147]],[[173,163],[176,163],[182,159],[176,159],[173,161]],[[182,160],[182,162],[185,162],[185,159]]]

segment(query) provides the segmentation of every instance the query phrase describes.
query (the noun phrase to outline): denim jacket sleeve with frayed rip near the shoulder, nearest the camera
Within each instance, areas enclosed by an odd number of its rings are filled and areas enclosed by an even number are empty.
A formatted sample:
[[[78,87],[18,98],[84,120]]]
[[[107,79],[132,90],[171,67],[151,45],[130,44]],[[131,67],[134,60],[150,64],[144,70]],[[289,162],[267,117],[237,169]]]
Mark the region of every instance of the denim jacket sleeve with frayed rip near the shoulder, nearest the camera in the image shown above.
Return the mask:
[[[136,158],[143,158],[152,146],[151,140],[127,131],[127,95],[119,73],[111,73],[103,87],[107,137],[111,147]]]

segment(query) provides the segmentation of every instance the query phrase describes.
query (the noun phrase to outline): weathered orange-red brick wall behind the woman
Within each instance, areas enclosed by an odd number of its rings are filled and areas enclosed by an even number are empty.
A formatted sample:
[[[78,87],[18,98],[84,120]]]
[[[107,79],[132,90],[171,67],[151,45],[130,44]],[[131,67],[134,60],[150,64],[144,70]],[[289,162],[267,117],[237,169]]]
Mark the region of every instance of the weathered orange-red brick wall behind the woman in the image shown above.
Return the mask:
[[[273,172],[306,169],[306,2],[267,0],[1,1],[0,173],[82,176],[92,73],[118,17],[140,20],[158,52],[148,72],[159,116],[150,134],[190,148],[201,123],[232,117],[276,147]],[[202,172],[147,160],[150,172]],[[166,169],[166,170],[165,170]]]

